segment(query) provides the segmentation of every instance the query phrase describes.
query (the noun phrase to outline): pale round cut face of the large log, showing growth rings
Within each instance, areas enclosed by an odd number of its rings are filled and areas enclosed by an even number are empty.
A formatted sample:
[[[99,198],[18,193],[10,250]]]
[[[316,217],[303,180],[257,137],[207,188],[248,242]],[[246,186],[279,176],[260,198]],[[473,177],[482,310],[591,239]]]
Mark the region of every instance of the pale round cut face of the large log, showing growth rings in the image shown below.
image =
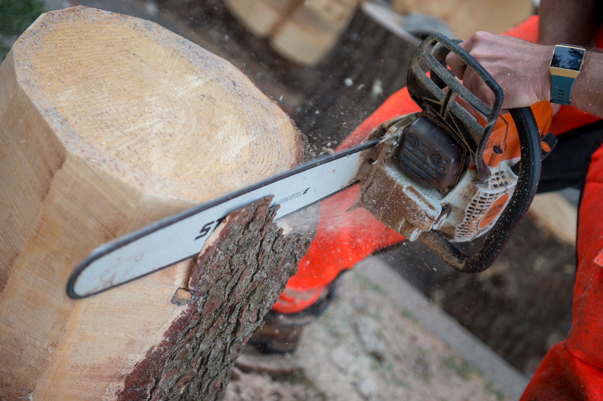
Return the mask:
[[[275,102],[155,23],[51,11],[12,53],[17,81],[65,148],[145,193],[209,201],[300,162],[301,137]]]

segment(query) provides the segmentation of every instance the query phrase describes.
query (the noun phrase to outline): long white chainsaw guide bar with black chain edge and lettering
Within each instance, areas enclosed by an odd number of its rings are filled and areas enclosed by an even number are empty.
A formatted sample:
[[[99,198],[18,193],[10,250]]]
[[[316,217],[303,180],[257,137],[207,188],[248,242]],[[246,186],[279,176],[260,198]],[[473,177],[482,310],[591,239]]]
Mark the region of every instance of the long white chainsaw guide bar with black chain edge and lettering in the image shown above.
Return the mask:
[[[309,161],[257,184],[226,194],[106,243],[90,253],[69,278],[67,293],[79,299],[109,290],[197,255],[229,213],[274,196],[275,219],[355,183],[360,155],[379,139]]]

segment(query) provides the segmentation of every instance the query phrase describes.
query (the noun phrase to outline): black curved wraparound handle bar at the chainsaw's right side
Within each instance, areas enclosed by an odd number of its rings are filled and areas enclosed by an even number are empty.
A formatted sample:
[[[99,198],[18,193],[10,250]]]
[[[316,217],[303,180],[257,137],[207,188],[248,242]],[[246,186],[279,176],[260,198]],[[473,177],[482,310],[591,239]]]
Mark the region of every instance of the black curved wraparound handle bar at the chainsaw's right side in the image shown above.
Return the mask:
[[[509,111],[517,127],[521,147],[519,178],[511,200],[494,227],[488,232],[488,236],[478,252],[473,256],[465,255],[438,231],[425,231],[419,236],[419,239],[429,249],[459,272],[483,272],[494,263],[517,225],[528,213],[528,208],[532,204],[538,188],[542,155],[540,134],[534,114],[529,107],[511,108]]]

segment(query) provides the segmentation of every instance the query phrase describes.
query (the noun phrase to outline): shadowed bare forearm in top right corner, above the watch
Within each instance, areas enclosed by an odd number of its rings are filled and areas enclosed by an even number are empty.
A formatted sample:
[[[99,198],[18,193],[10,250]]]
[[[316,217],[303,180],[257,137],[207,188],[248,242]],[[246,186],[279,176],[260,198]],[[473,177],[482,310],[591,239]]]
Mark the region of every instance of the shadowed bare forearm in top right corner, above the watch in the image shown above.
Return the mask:
[[[539,42],[542,45],[588,45],[600,22],[597,7],[597,0],[541,0]]]

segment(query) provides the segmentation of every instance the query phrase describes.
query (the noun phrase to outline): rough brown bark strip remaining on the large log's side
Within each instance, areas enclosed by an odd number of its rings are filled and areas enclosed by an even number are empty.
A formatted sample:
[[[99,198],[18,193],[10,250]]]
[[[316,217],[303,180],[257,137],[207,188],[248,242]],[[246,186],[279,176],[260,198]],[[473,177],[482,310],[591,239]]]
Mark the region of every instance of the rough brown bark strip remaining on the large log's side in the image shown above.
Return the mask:
[[[235,359],[312,241],[312,235],[283,236],[270,201],[234,211],[208,238],[192,270],[188,309],[127,376],[119,400],[223,397]]]

